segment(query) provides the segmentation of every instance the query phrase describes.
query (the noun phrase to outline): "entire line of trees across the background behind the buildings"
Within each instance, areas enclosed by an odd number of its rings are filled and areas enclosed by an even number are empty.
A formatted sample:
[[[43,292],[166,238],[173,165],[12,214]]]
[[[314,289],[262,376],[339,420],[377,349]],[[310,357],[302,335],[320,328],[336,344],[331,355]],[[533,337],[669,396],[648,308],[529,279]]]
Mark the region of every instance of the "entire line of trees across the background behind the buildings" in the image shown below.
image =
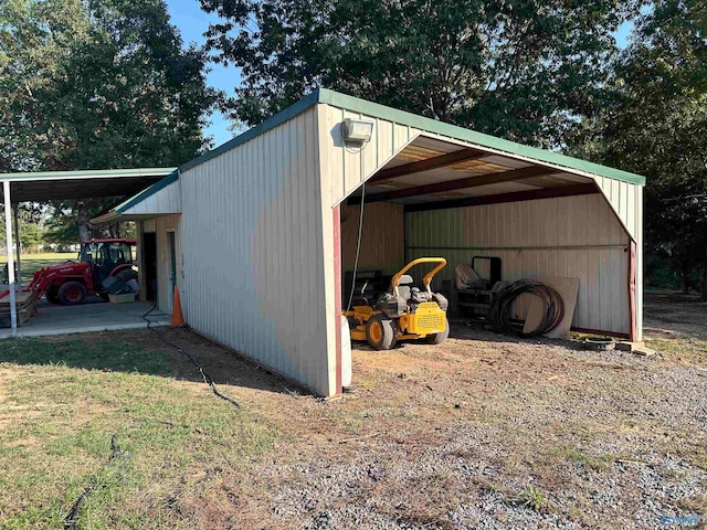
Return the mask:
[[[646,176],[648,273],[707,298],[704,0],[200,2],[202,47],[161,0],[0,4],[0,171],[178,165],[212,108],[254,125],[325,86]],[[213,62],[241,68],[232,97]]]

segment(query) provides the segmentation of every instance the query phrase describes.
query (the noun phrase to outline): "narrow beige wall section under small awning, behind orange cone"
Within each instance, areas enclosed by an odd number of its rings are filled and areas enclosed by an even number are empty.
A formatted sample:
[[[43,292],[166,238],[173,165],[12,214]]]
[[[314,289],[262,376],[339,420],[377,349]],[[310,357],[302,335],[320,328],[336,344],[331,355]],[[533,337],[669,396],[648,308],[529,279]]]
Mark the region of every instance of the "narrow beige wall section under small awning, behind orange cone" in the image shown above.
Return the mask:
[[[175,294],[169,277],[171,256],[167,243],[167,232],[175,232],[175,246],[177,248],[177,285],[182,295],[182,271],[184,268],[184,252],[181,236],[181,215],[163,215],[157,218],[157,305],[165,312],[172,312]]]

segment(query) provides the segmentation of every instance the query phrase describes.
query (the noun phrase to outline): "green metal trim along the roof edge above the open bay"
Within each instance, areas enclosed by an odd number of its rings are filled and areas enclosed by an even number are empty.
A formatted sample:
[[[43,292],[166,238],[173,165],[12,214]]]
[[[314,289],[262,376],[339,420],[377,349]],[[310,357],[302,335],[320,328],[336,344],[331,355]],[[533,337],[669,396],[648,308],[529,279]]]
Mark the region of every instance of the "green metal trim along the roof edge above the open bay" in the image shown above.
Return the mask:
[[[622,171],[620,169],[610,168],[608,166],[601,166],[594,162],[588,162],[578,158],[568,157],[557,152],[546,151],[536,147],[524,146],[516,144],[515,141],[504,140],[494,136],[485,135],[483,132],[476,132],[474,130],[465,129],[456,125],[445,124],[415,114],[399,110],[397,108],[387,107],[377,103],[367,102],[358,97],[340,94],[338,92],[320,88],[318,91],[319,103],[331,105],[334,107],[345,108],[355,113],[360,113],[374,118],[386,119],[394,121],[400,125],[407,125],[416,129],[435,132],[437,135],[449,136],[457,140],[475,144],[479,147],[487,147],[489,149],[496,149],[499,151],[508,152],[510,155],[517,155],[520,157],[537,160],[539,162],[547,162],[556,166],[562,166],[564,168],[583,171],[600,177],[606,177],[614,180],[621,180],[630,182],[632,184],[645,184],[645,177],[641,174],[631,173],[629,171]]]

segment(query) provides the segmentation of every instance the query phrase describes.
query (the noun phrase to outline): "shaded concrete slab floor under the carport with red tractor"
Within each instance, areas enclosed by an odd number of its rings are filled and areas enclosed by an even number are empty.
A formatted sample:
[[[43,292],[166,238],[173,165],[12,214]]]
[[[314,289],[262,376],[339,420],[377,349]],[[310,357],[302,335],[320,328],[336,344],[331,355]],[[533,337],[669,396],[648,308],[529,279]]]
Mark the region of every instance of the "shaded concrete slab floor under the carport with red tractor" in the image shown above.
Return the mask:
[[[143,315],[152,304],[134,301],[109,304],[99,298],[87,300],[82,306],[53,306],[41,300],[39,314],[18,328],[18,337],[42,337],[51,335],[85,333],[146,328]],[[169,326],[171,316],[155,309],[147,318],[152,327]],[[12,337],[9,328],[0,329],[0,339]]]

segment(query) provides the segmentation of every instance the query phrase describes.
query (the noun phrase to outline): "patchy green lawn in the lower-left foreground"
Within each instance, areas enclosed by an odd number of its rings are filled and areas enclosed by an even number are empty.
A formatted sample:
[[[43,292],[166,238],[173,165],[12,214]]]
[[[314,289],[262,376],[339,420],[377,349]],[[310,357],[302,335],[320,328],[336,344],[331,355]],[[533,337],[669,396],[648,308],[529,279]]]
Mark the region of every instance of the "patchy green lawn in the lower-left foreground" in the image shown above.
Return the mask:
[[[187,528],[160,509],[182,477],[271,447],[263,418],[171,379],[170,359],[120,340],[0,342],[0,527],[61,529],[91,488],[77,529]]]

